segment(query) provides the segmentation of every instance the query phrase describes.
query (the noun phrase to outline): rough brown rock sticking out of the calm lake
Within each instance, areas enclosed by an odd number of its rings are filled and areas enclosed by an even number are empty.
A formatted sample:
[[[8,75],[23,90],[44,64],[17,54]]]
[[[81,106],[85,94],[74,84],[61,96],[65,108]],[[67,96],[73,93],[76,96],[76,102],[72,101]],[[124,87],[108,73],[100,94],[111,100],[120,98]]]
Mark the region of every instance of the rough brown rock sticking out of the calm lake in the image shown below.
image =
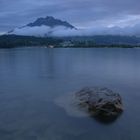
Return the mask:
[[[83,88],[76,98],[79,106],[100,119],[114,119],[123,111],[121,96],[108,88]]]

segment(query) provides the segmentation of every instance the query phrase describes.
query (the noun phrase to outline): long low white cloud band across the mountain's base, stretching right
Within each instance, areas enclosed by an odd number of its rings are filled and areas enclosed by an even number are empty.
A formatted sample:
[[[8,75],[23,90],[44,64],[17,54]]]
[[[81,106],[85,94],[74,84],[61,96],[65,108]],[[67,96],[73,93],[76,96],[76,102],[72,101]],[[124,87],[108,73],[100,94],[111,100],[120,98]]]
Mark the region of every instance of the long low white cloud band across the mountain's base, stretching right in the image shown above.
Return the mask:
[[[127,27],[100,27],[86,29],[70,29],[64,26],[50,28],[49,26],[16,28],[10,34],[27,36],[92,36],[92,35],[137,35],[140,36],[140,24]],[[139,28],[139,29],[138,29]]]

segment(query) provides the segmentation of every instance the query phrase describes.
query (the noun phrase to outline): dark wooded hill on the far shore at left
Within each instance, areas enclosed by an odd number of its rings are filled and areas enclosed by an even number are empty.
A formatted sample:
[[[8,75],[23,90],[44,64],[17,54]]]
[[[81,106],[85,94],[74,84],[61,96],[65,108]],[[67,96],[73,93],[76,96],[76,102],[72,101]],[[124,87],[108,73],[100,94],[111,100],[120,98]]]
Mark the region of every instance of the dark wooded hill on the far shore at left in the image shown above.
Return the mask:
[[[3,35],[0,36],[0,48],[14,48],[22,46],[57,46],[62,42],[57,38],[43,38],[33,36]]]

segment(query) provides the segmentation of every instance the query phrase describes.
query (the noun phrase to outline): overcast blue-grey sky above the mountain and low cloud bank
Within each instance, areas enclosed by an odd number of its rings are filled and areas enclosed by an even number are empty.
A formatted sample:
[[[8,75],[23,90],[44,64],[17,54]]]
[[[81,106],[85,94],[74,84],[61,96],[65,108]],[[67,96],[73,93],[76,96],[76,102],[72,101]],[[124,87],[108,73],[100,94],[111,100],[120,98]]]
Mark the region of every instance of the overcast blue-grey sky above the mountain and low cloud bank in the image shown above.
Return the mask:
[[[54,16],[77,28],[140,24],[140,0],[0,0],[0,32]]]

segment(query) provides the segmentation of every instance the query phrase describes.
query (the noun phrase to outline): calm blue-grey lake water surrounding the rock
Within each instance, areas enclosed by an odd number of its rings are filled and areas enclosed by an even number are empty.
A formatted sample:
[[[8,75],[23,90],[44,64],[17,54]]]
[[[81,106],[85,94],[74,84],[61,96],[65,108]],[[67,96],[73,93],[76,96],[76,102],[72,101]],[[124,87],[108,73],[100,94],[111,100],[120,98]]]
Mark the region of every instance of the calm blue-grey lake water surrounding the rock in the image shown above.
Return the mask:
[[[68,115],[54,99],[85,86],[119,92],[114,123]],[[140,49],[0,50],[0,140],[139,140]]]

